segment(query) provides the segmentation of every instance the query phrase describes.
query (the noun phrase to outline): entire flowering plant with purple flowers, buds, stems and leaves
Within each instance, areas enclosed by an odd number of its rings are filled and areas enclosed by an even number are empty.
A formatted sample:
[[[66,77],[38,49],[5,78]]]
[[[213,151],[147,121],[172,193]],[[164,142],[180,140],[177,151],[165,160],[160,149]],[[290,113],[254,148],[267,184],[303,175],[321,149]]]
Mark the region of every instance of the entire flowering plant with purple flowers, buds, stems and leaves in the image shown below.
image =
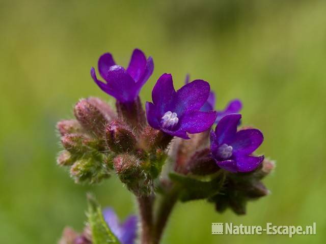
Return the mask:
[[[268,194],[261,179],[274,168],[255,154],[261,131],[240,126],[242,103],[235,99],[216,111],[207,81],[190,82],[187,75],[176,90],[172,75],[162,74],[145,111],[139,93],[153,69],[153,59],[139,49],[126,69],[104,53],[98,60],[104,82],[94,68],[91,77],[116,99],[116,109],[98,98],[82,99],[74,108],[76,119],[57,125],[64,147],[58,164],[69,167],[76,182],[93,184],[116,174],[138,199],[141,243],[159,242],[177,200],[206,199],[219,212],[230,207],[244,214],[248,200]],[[157,193],[162,200],[155,212]],[[137,217],[121,224],[112,209],[98,212],[94,203],[88,216],[86,234],[66,229],[62,243],[100,243],[102,237],[134,243]]]

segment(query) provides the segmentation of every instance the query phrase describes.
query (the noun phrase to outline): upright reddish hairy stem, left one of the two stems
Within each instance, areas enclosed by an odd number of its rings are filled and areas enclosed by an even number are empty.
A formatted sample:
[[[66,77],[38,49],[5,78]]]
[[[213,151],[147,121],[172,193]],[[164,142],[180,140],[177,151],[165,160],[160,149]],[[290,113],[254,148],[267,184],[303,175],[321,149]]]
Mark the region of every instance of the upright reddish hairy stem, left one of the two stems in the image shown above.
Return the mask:
[[[153,244],[153,197],[138,196],[141,217],[141,243]]]

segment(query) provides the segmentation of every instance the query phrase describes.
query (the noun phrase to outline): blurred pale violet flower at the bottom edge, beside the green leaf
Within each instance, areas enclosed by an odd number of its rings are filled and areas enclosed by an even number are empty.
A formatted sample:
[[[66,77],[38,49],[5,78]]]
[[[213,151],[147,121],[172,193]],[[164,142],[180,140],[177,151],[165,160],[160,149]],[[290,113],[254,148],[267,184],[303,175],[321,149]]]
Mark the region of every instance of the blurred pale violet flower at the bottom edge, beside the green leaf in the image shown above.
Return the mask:
[[[124,223],[120,223],[112,208],[103,210],[103,217],[121,244],[133,244],[137,233],[137,216],[129,216]]]

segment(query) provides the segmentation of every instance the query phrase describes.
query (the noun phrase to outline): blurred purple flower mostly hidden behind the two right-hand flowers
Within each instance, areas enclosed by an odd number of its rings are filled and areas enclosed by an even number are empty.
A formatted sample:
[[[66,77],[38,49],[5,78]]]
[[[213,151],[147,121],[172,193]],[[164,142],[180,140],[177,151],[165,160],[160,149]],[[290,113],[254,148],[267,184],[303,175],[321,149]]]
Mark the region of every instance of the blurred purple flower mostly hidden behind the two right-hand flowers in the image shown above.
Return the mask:
[[[185,83],[186,84],[189,83],[189,75],[188,74],[186,75]],[[208,99],[204,103],[204,105],[201,107],[200,111],[207,112],[207,111],[215,110],[214,109],[215,108],[215,101],[216,101],[216,99],[215,99],[214,92],[212,92],[212,91],[209,92]],[[241,103],[241,101],[239,99],[231,100],[224,110],[217,111],[218,112],[218,116],[216,117],[215,123],[218,124],[219,121],[224,116],[226,116],[228,114],[240,112],[241,108],[242,108],[242,103]]]

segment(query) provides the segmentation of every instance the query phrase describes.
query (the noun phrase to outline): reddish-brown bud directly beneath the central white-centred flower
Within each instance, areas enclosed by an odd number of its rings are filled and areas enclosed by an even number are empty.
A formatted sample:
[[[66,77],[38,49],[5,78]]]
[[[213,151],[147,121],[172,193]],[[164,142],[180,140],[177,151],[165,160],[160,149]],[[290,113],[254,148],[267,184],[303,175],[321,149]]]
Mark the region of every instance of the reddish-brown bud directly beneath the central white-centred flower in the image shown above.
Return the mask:
[[[141,146],[145,150],[156,151],[157,148],[165,150],[173,136],[147,126],[141,135]]]

